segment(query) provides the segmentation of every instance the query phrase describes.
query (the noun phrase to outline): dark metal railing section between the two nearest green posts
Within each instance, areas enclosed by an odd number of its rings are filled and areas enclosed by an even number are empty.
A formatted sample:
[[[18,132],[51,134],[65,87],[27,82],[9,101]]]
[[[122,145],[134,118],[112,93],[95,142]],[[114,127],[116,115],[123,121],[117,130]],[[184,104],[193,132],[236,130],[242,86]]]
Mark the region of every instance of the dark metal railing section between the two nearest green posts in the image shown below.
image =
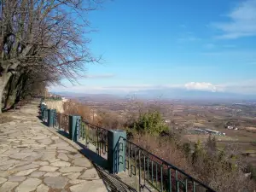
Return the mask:
[[[108,153],[108,130],[102,127],[90,124],[85,120],[79,120],[79,139],[86,145],[89,143],[96,147],[96,153],[106,156]]]

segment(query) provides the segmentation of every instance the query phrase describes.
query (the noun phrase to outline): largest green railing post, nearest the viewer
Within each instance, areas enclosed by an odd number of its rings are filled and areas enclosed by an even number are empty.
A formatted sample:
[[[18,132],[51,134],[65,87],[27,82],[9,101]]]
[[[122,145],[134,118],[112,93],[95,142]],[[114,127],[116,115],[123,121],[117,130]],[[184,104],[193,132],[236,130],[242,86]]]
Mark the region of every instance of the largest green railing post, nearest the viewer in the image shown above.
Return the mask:
[[[126,131],[108,131],[108,168],[111,173],[125,172]]]

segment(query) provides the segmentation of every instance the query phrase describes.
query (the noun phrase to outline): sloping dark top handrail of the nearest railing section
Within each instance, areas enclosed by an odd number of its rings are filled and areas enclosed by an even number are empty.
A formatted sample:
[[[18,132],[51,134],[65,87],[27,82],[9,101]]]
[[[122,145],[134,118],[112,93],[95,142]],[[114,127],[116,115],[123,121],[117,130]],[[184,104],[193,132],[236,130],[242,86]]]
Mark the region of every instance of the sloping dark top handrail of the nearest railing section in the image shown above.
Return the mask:
[[[180,170],[179,168],[177,168],[177,166],[173,166],[171,163],[167,162],[166,160],[161,159],[160,157],[156,156],[155,154],[152,154],[151,152],[149,152],[148,150],[146,150],[146,149],[143,148],[143,147],[140,147],[140,146],[137,145],[136,143],[132,143],[131,141],[129,141],[129,140],[126,139],[125,137],[121,137],[121,138],[124,139],[124,140],[126,140],[126,141],[128,141],[129,143],[135,145],[135,146],[136,146],[137,148],[139,148],[140,150],[145,151],[147,154],[152,155],[152,156],[153,156],[154,158],[156,158],[157,160],[160,160],[160,161],[162,162],[162,164],[166,164],[166,166],[168,166],[168,168],[171,167],[171,168],[177,170],[178,172],[181,172],[184,176],[188,177],[188,178],[191,179],[191,180],[194,180],[195,183],[201,184],[201,186],[203,186],[204,188],[206,188],[206,189],[208,189],[208,190],[210,190],[210,191],[212,191],[212,192],[215,191],[215,190],[211,189],[210,187],[208,187],[206,184],[201,183],[201,181],[199,181],[199,180],[197,180],[196,178],[190,176],[188,173],[183,172],[182,170]]]

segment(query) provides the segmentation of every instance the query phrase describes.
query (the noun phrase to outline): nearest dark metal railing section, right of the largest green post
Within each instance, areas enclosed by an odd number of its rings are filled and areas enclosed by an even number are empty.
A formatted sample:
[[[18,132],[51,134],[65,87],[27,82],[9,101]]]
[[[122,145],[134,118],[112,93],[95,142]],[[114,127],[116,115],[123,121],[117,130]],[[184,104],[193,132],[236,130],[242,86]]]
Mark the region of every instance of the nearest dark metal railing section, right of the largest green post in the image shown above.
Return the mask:
[[[128,171],[130,177],[137,177],[139,191],[214,191],[146,149],[123,137],[121,139],[125,140],[125,172]]]

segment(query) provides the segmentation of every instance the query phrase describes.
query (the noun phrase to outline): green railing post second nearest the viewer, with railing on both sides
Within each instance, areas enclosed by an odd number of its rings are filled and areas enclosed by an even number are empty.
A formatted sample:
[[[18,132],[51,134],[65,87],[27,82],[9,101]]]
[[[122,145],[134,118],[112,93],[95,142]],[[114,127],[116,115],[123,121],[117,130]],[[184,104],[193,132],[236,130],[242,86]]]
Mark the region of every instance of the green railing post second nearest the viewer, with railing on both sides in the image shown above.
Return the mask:
[[[78,141],[79,129],[80,129],[79,121],[80,120],[81,120],[81,116],[69,115],[69,125],[68,125],[69,138],[73,142]]]

